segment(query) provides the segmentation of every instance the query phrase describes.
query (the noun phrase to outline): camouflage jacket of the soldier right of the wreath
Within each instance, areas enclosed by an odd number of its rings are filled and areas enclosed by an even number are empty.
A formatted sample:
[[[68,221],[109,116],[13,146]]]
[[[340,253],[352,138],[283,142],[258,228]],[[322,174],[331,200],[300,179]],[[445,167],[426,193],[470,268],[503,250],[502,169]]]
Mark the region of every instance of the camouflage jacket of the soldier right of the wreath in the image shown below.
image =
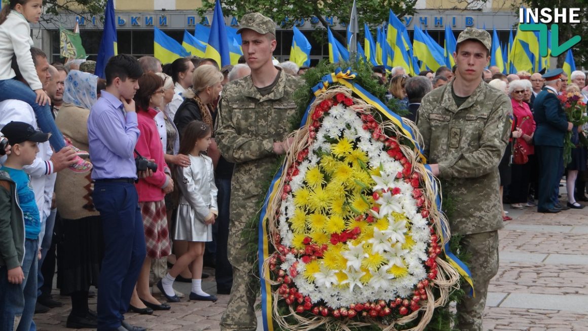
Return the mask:
[[[512,105],[505,93],[481,82],[457,108],[452,86],[423,98],[417,122],[423,149],[429,163],[439,163],[443,193],[453,199],[452,233],[497,230],[503,227],[498,164],[510,135]]]

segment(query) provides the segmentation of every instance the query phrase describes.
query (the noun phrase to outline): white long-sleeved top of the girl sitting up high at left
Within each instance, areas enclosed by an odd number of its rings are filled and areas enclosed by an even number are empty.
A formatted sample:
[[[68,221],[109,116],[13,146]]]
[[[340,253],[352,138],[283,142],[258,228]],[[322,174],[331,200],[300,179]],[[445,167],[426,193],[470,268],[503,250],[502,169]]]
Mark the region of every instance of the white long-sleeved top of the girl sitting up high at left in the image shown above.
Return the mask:
[[[17,11],[11,11],[6,21],[0,25],[0,81],[16,76],[12,70],[12,56],[16,54],[18,68],[25,81],[32,90],[42,89],[35,64],[31,55],[33,39],[31,39],[31,25]]]

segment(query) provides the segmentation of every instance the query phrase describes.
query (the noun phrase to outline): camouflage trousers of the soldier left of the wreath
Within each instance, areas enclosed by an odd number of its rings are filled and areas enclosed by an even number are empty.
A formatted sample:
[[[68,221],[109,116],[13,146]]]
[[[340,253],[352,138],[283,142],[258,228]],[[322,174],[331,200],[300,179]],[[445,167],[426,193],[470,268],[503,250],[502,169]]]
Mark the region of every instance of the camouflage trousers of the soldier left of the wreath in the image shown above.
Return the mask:
[[[255,210],[255,209],[253,209]],[[245,222],[231,220],[229,225],[228,258],[233,266],[233,287],[230,299],[220,319],[222,331],[255,331],[255,299],[259,291],[259,279],[253,276],[253,265],[248,262],[248,242],[242,238]]]

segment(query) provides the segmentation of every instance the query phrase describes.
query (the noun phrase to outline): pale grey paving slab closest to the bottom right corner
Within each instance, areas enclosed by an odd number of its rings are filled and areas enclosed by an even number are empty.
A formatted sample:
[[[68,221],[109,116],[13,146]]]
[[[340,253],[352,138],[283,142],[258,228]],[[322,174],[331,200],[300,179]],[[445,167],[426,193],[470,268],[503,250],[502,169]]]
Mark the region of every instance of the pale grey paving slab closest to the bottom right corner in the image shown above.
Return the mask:
[[[529,293],[510,293],[500,307],[524,309],[563,310],[585,313],[588,306],[587,295],[546,295]]]

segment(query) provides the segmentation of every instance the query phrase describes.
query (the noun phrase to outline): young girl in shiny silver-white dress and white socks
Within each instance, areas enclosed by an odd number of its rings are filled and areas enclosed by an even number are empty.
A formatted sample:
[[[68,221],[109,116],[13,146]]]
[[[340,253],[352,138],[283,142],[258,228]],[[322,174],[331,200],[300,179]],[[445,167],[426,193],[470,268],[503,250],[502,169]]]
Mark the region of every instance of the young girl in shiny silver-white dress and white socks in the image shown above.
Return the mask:
[[[179,302],[179,297],[173,292],[173,282],[190,263],[190,300],[216,301],[216,296],[202,290],[204,243],[212,241],[212,225],[218,215],[212,159],[202,153],[211,145],[211,133],[210,126],[204,122],[192,121],[186,126],[180,143],[179,153],[188,155],[191,165],[176,168],[175,185],[179,188],[180,196],[172,238],[187,241],[188,252],[178,259],[158,283],[169,302]]]

